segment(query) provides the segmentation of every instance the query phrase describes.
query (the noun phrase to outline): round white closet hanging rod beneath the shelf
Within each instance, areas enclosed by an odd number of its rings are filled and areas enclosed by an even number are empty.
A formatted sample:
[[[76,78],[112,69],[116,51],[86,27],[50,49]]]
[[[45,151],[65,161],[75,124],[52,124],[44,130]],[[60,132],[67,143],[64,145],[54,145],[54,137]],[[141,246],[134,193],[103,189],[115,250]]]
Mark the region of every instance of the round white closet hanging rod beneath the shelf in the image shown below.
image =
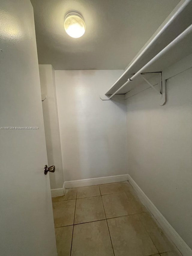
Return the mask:
[[[192,32],[192,24],[187,29],[185,29],[180,35],[178,35],[172,42],[170,42],[170,44],[168,44],[163,50],[161,50],[157,55],[155,55],[155,57],[153,57],[149,62],[147,62],[147,64],[144,65],[143,68],[141,68],[139,71],[137,71],[137,73],[135,73],[131,78],[129,78],[127,82],[125,82],[116,92],[114,92],[109,97],[109,99],[111,99],[114,95],[116,95],[128,83],[130,83],[132,80],[134,80],[134,78],[136,78],[138,75],[140,75],[145,70],[145,68],[150,66],[156,60],[158,60],[159,57],[161,57],[162,55],[167,53],[174,45],[176,45],[184,37],[186,37],[188,34],[190,34],[190,32]]]

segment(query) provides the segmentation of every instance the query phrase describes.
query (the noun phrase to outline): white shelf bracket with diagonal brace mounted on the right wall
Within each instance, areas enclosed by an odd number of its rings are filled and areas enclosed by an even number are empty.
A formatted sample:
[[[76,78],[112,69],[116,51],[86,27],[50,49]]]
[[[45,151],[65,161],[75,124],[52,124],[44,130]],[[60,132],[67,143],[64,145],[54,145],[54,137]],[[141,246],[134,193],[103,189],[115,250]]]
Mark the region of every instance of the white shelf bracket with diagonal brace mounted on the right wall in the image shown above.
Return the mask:
[[[155,84],[155,85],[152,85],[143,75],[144,74],[149,74],[149,73],[141,73],[141,77],[143,78],[143,80],[146,81],[146,83],[148,83],[154,90],[155,92],[158,93],[158,95],[160,96],[160,105],[164,105],[167,101],[167,91],[166,91],[166,83],[167,83],[167,80],[163,80],[162,81],[162,73],[161,72],[150,72],[150,73],[157,73],[159,74],[159,80],[158,80],[158,83]],[[159,89],[160,91],[158,91],[155,86],[156,85],[159,85]]]

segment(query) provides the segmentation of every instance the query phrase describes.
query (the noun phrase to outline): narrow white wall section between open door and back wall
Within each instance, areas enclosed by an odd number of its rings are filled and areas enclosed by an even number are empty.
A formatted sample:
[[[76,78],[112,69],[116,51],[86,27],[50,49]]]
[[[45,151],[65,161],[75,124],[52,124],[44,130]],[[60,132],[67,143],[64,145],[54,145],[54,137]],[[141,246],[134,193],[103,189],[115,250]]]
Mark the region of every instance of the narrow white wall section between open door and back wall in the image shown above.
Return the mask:
[[[42,106],[48,165],[55,165],[55,173],[49,173],[50,185],[52,189],[62,188],[64,179],[55,89],[55,72],[52,65],[39,65],[39,74],[41,94],[46,94],[47,96],[47,98],[42,101]]]

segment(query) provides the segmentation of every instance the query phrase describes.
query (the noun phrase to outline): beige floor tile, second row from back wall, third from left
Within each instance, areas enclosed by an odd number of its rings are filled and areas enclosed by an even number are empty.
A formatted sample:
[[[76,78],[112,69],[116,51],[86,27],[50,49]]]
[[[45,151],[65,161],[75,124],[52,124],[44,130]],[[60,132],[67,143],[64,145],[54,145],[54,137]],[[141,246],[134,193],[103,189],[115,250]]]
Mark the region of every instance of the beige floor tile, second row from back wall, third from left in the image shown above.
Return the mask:
[[[107,218],[115,218],[137,213],[125,192],[102,196],[105,214]]]

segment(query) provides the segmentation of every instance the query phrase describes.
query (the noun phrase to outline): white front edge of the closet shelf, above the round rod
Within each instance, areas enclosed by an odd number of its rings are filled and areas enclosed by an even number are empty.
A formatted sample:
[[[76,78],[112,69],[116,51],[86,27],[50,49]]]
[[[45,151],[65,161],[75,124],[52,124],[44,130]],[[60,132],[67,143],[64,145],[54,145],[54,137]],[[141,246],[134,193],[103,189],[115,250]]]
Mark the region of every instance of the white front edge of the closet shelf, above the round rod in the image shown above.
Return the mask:
[[[191,2],[191,0],[185,0],[182,5],[178,8],[178,10],[170,17],[170,19],[166,22],[166,24],[159,30],[159,32],[155,35],[155,37],[149,42],[149,44],[143,49],[143,51],[137,56],[137,58],[129,65],[129,67],[124,71],[124,73],[119,77],[119,79],[113,84],[115,86],[119,80],[126,75],[126,73],[133,67],[133,65],[143,56],[143,54],[158,40],[158,38],[164,33],[164,31],[173,23],[174,20],[179,16],[179,14],[184,10],[184,8]],[[111,86],[110,89],[113,88]],[[110,91],[108,90],[108,92]],[[105,94],[107,95],[108,92]]]

